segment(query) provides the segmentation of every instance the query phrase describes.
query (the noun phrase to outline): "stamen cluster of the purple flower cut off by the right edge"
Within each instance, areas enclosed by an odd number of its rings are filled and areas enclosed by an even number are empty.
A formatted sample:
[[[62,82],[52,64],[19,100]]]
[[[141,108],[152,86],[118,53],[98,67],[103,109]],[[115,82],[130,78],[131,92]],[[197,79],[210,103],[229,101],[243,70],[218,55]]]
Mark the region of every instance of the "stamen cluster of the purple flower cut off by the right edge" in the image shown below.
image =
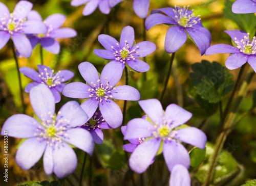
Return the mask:
[[[234,38],[234,43],[237,44],[238,49],[240,49],[241,52],[247,55],[254,55],[256,53],[256,44],[255,44],[255,36],[253,37],[251,43],[250,43],[250,37],[249,33],[247,33],[247,36],[244,36],[244,39],[241,39],[240,42],[237,41],[237,38]]]

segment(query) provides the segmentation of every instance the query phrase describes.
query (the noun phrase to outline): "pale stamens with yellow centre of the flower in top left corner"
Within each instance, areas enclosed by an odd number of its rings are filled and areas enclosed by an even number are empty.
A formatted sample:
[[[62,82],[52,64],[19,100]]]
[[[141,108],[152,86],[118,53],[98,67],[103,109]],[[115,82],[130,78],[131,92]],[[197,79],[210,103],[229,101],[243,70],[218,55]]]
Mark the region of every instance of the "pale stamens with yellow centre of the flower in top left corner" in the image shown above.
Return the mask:
[[[19,32],[23,29],[23,23],[26,20],[26,18],[16,19],[14,13],[11,13],[10,15],[5,14],[5,17],[0,18],[0,27],[3,31],[8,31],[10,34],[13,34],[13,32]]]

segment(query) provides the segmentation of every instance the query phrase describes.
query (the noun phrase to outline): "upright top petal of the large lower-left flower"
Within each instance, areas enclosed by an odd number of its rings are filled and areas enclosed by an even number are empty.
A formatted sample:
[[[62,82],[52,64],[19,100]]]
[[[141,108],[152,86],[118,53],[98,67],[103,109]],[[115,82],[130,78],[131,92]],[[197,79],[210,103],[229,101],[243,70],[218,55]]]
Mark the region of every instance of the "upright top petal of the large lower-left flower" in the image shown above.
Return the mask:
[[[51,115],[55,114],[55,100],[50,89],[44,84],[37,85],[30,90],[29,97],[36,116],[41,121],[52,121]]]

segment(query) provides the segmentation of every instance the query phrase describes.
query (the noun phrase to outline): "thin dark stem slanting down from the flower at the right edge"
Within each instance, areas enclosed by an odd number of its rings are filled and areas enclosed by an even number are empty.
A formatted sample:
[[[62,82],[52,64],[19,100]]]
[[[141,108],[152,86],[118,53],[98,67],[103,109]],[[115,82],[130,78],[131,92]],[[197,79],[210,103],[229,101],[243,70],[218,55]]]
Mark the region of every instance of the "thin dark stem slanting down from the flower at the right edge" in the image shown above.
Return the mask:
[[[225,122],[226,116],[227,116],[228,113],[229,113],[229,110],[230,110],[230,108],[231,108],[230,106],[231,106],[231,103],[232,103],[232,100],[233,100],[233,97],[234,97],[234,93],[236,92],[236,90],[237,90],[237,88],[238,88],[238,84],[239,84],[239,82],[240,82],[240,79],[241,79],[242,73],[243,73],[243,71],[244,71],[244,69],[245,69],[245,66],[246,66],[246,64],[243,65],[243,66],[241,67],[240,71],[239,71],[236,84],[234,84],[233,91],[232,91],[232,93],[231,93],[231,96],[230,96],[229,99],[228,99],[226,108],[225,108],[225,110],[224,110],[224,113],[222,114],[220,123],[219,123],[219,125],[218,125],[218,128],[217,128],[217,132],[218,132],[218,133],[220,132],[220,130],[221,130],[221,128],[222,128],[222,126],[223,126],[223,124],[224,124],[224,122]]]

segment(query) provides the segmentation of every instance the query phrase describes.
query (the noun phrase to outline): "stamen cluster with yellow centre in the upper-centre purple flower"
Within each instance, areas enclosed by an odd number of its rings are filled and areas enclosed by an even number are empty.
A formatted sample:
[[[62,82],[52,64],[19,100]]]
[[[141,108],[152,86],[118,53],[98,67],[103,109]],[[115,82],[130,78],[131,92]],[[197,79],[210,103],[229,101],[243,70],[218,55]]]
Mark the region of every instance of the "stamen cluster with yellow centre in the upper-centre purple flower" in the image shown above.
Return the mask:
[[[122,62],[123,64],[125,64],[125,59],[127,59],[128,61],[130,61],[130,59],[135,60],[135,57],[133,55],[139,53],[138,51],[136,51],[136,49],[139,48],[139,46],[136,46],[135,49],[130,51],[130,47],[127,44],[127,40],[125,40],[125,47],[120,48],[118,43],[116,43],[116,45],[118,46],[119,50],[116,50],[114,46],[111,46],[115,50],[113,54],[115,55],[116,60]]]

